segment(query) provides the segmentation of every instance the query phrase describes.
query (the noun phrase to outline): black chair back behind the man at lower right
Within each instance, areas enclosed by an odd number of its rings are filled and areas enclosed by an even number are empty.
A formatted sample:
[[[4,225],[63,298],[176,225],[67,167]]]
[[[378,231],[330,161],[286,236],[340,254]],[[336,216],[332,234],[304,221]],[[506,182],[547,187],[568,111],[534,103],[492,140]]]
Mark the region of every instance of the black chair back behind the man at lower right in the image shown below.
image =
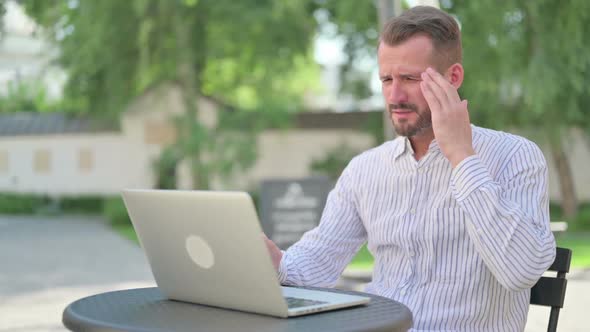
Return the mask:
[[[572,251],[570,249],[559,247],[556,249],[555,261],[553,261],[548,271],[557,272],[557,276],[541,277],[535,286],[531,288],[531,304],[551,307],[547,332],[555,332],[557,330],[559,309],[563,308],[563,302],[565,300],[565,289],[567,286],[565,275],[570,270],[570,262],[572,260]]]

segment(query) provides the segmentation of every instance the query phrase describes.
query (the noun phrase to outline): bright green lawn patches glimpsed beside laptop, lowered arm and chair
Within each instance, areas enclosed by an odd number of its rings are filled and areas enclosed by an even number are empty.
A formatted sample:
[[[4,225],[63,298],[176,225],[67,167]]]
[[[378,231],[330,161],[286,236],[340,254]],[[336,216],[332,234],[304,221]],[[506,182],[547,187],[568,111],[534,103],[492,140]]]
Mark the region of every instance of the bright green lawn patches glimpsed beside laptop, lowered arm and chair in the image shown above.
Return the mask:
[[[131,226],[115,226],[115,230],[123,237],[138,243],[137,236]],[[572,268],[590,268],[590,232],[567,232],[556,237],[559,247],[571,249]],[[354,270],[370,270],[373,268],[373,256],[366,246],[363,246],[349,265]]]

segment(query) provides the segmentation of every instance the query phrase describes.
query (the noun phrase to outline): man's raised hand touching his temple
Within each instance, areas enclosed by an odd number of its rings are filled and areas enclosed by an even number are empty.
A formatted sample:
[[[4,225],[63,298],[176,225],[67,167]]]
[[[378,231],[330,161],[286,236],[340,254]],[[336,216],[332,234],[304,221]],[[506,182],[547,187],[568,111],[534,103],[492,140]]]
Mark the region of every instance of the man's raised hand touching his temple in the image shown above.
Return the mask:
[[[434,137],[455,167],[475,154],[467,100],[461,100],[457,89],[432,68],[422,73],[420,88],[430,107]]]

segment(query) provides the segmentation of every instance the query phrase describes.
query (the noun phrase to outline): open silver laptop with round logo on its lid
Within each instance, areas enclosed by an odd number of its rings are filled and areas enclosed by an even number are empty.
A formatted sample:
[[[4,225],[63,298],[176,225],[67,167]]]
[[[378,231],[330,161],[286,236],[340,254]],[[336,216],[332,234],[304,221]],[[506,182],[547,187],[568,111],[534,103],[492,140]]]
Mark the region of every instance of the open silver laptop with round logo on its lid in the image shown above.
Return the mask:
[[[246,192],[124,190],[122,195],[158,288],[169,299],[276,317],[370,301],[282,287]]]

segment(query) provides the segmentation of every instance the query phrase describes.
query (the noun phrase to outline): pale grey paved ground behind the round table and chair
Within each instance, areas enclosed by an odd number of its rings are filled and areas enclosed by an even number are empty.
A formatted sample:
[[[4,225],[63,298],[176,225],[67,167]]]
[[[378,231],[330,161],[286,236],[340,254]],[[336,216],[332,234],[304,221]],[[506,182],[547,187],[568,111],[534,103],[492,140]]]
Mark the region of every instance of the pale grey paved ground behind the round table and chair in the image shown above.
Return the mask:
[[[590,270],[569,280],[559,331],[590,331]],[[0,216],[0,332],[65,331],[61,315],[72,301],[153,285],[141,249],[98,218]],[[531,308],[526,332],[545,331],[548,317]]]

